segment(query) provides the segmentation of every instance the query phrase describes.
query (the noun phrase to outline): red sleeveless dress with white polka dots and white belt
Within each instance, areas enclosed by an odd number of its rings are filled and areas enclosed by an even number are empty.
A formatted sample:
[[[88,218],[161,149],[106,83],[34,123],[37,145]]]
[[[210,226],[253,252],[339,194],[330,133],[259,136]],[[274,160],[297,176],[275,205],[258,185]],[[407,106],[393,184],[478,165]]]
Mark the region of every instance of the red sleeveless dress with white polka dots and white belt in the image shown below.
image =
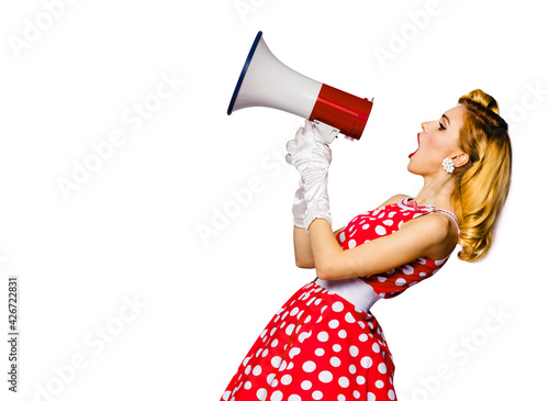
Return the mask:
[[[457,225],[452,213],[405,199],[357,215],[337,241],[349,249],[435,211]],[[419,258],[378,275],[309,282],[261,332],[222,400],[396,400],[393,359],[369,309],[433,276],[447,259]]]

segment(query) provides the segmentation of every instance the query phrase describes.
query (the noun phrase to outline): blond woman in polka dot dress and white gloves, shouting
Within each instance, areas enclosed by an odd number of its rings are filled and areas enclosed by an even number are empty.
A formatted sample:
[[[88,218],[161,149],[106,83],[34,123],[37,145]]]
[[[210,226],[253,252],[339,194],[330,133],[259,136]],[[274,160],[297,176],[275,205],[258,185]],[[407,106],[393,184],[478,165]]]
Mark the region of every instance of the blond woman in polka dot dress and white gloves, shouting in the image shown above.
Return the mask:
[[[310,122],[288,143],[301,174],[295,192],[299,267],[317,279],[272,318],[222,400],[395,400],[394,365],[370,307],[433,276],[456,244],[483,257],[511,182],[507,124],[481,90],[422,124],[408,170],[424,178],[414,198],[397,194],[332,231],[329,147]]]

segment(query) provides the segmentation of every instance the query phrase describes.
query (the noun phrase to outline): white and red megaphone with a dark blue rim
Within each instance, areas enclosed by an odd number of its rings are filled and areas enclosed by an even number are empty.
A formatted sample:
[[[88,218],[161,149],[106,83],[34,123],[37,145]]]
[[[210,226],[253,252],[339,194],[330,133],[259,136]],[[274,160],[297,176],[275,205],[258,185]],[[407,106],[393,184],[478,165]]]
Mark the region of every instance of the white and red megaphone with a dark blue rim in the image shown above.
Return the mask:
[[[372,102],[305,77],[282,64],[256,35],[233,92],[227,114],[267,107],[314,121],[327,143],[340,132],[360,140]]]

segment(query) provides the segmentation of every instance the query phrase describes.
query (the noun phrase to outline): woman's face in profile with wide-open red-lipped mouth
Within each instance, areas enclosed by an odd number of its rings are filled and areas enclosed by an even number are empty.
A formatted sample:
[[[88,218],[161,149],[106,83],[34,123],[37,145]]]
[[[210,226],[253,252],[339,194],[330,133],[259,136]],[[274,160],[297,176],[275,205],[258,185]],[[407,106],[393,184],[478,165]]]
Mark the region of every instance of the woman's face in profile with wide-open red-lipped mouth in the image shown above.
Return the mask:
[[[446,157],[459,156],[452,161],[457,167],[463,164],[463,151],[459,147],[459,132],[463,125],[464,110],[466,108],[460,104],[445,112],[436,121],[422,123],[423,130],[417,134],[418,148],[408,156],[410,172],[424,177],[445,172],[442,160]]]

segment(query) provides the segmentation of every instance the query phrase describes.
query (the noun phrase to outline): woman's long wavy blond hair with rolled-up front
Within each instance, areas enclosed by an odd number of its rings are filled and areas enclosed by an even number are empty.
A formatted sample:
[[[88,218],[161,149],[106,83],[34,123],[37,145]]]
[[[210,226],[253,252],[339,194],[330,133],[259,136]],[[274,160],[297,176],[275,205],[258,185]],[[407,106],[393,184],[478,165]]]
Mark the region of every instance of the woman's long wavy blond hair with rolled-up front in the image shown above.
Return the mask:
[[[459,135],[469,163],[457,168],[458,185],[451,201],[461,234],[461,260],[475,261],[490,249],[494,226],[511,186],[512,149],[507,124],[497,102],[480,89],[461,98],[466,108]]]

